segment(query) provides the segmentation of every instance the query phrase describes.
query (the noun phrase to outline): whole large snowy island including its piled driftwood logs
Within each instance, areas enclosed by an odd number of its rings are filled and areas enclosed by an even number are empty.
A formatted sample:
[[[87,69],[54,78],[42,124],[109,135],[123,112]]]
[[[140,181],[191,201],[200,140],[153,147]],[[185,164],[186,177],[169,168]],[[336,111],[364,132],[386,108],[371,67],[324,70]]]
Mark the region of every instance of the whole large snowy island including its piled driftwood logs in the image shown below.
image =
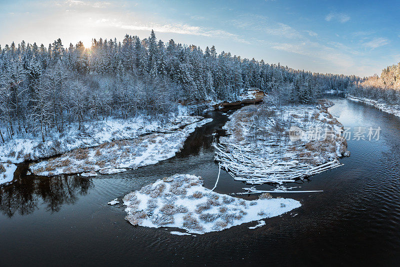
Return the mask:
[[[223,126],[228,135],[214,145],[215,161],[234,180],[252,185],[280,185],[339,167],[337,158],[349,152],[340,135],[342,125],[327,111],[332,104],[243,107]],[[244,193],[288,192],[284,186],[264,191],[254,186],[243,189]]]

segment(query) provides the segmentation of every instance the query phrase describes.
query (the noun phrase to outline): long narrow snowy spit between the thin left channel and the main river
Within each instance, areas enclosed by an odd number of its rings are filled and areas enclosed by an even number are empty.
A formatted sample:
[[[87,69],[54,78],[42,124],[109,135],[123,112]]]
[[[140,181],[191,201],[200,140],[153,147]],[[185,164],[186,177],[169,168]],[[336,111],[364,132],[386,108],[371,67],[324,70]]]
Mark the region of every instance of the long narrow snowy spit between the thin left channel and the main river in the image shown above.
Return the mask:
[[[199,116],[190,117],[197,121]],[[92,148],[79,148],[59,157],[43,160],[30,166],[36,175],[52,176],[61,173],[82,173],[85,176],[125,171],[171,158],[183,147],[183,142],[196,127],[212,119],[203,119],[175,129],[170,133],[153,133],[130,140],[102,143]]]

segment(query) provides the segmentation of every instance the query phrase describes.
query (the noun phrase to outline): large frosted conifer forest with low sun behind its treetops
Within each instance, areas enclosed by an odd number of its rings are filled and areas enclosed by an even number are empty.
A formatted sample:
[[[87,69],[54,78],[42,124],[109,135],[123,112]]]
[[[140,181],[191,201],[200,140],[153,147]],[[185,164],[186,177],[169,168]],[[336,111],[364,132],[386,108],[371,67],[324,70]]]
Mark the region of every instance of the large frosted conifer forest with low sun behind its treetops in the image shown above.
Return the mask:
[[[253,87],[283,103],[309,103],[321,91],[358,81],[217,55],[214,46],[164,44],[153,31],[143,40],[126,35],[122,43],[93,39],[89,49],[81,42],[66,48],[60,39],[48,47],[22,41],[0,47],[0,137],[33,134],[44,141],[72,122],[81,129],[110,116],[164,118],[174,103],[235,100]]]

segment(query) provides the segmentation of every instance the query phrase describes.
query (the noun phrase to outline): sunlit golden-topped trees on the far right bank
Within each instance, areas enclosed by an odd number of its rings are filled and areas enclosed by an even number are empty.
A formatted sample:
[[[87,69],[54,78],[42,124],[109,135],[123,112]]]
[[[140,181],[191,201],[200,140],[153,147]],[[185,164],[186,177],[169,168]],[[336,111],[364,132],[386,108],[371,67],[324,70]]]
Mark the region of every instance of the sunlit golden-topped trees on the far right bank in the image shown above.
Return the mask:
[[[362,79],[347,91],[357,97],[400,104],[400,63],[384,68],[380,77],[374,75]]]

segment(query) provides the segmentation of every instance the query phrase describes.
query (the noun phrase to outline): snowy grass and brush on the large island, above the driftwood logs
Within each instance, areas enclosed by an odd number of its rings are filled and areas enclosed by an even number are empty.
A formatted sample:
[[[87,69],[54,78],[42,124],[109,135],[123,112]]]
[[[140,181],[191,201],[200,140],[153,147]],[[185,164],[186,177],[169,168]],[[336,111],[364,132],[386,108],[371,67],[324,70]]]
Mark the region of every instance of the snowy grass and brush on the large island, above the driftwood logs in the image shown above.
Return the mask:
[[[271,109],[265,104],[249,105],[229,116],[223,126],[229,135],[219,140],[244,150],[256,150],[258,155],[269,155],[278,161],[320,165],[348,154],[347,142],[341,137],[343,126],[329,114],[329,105],[323,102],[319,107],[281,109]],[[294,126],[304,132],[297,141],[289,138],[289,130]],[[321,134],[313,140],[313,135],[317,136],[315,129]]]

